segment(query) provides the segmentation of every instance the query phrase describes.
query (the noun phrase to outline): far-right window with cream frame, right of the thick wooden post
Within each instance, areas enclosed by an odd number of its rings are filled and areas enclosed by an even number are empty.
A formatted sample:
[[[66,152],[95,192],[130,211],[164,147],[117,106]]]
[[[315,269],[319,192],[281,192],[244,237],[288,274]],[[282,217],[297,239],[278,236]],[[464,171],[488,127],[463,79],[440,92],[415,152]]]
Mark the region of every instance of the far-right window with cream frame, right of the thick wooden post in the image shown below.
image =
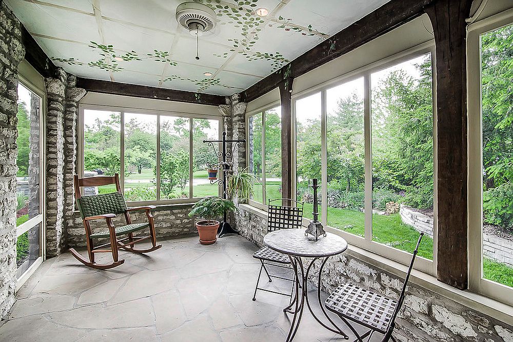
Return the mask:
[[[469,287],[513,305],[513,17],[469,31]],[[489,23],[489,24],[487,24]]]

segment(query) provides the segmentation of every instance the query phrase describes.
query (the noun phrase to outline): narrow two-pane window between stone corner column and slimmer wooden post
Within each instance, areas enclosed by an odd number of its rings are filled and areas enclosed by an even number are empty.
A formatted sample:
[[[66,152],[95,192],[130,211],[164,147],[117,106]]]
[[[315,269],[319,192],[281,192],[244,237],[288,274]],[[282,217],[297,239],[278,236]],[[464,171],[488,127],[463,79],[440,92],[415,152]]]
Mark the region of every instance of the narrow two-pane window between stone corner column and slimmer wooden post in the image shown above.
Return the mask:
[[[251,200],[267,204],[282,198],[282,116],[273,107],[248,117],[248,167],[258,179]]]

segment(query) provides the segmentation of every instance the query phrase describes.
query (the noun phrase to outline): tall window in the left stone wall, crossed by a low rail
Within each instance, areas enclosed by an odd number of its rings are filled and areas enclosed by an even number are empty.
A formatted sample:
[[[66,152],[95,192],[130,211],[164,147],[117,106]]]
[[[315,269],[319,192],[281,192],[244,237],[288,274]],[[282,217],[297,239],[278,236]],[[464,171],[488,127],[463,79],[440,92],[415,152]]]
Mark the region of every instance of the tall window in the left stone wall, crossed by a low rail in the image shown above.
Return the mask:
[[[23,83],[18,83],[16,145],[16,265],[19,279],[37,261],[42,261],[43,247],[43,184],[42,167],[42,96]]]

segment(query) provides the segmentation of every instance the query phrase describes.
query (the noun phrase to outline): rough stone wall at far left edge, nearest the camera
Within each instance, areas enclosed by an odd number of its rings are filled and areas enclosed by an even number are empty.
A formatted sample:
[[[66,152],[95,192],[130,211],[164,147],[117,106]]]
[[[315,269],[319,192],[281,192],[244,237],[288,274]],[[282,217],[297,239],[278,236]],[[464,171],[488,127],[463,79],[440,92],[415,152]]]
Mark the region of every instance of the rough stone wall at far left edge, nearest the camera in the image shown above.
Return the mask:
[[[16,157],[18,64],[25,50],[20,24],[0,2],[0,318],[16,289]]]

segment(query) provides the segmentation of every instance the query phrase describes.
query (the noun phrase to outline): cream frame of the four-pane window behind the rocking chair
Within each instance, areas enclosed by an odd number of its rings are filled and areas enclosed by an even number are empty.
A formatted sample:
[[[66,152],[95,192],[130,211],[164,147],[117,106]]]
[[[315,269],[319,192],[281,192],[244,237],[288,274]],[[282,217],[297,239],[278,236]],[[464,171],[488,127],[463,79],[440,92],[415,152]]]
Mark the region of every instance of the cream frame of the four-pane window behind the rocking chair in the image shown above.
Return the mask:
[[[139,109],[139,108],[130,108],[130,107],[117,107],[117,106],[107,106],[107,105],[92,105],[92,104],[79,104],[78,105],[78,119],[77,119],[77,132],[78,132],[78,148],[77,148],[77,173],[79,177],[84,177],[84,111],[85,110],[101,110],[108,112],[119,112],[121,113],[121,121],[120,121],[120,160],[121,160],[121,170],[120,170],[120,185],[122,192],[125,190],[125,175],[124,175],[124,167],[125,167],[125,136],[124,136],[124,117],[125,113],[130,114],[141,114],[141,115],[155,115],[157,124],[156,124],[156,142],[157,142],[157,154],[156,154],[156,192],[157,199],[156,200],[147,200],[147,201],[127,201],[127,204],[130,206],[141,206],[141,205],[169,205],[169,204],[187,204],[187,203],[195,203],[198,202],[202,197],[194,197],[193,194],[193,175],[192,175],[192,119],[208,119],[208,120],[218,120],[218,138],[221,139],[221,134],[223,131],[223,117],[221,115],[206,115],[206,114],[192,114],[186,112],[179,111],[167,111],[167,110],[158,110],[158,109]],[[160,197],[160,118],[161,116],[171,116],[171,117],[185,117],[190,118],[189,120],[189,198],[174,198],[174,199],[159,199]],[[219,151],[218,146],[218,151]],[[219,162],[219,159],[218,159]],[[218,175],[219,176],[219,175]],[[221,196],[221,187],[218,187],[218,195]]]

